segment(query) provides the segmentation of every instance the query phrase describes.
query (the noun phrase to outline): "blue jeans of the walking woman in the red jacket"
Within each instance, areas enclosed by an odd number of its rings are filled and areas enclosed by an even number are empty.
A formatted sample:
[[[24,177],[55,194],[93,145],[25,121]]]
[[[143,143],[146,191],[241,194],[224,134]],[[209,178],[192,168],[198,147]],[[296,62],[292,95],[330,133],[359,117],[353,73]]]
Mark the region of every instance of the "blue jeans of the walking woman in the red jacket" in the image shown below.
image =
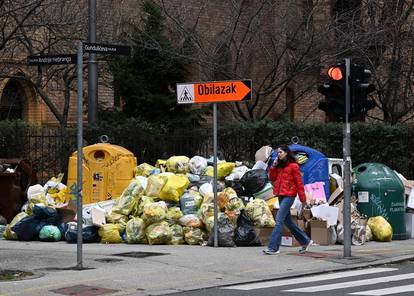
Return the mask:
[[[310,242],[310,238],[300,229],[292,220],[290,215],[290,207],[295,201],[294,197],[279,197],[279,210],[276,214],[276,226],[272,231],[268,248],[274,251],[279,250],[282,242],[282,228],[283,224],[289,228],[292,235],[302,245],[306,246]]]

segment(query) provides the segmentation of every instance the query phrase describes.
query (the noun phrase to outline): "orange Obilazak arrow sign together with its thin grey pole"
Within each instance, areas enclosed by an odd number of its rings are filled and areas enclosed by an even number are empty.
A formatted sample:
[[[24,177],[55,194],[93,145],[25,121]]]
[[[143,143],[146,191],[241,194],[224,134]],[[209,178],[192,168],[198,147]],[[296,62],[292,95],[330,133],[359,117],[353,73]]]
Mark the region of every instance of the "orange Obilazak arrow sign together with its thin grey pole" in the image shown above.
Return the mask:
[[[178,83],[178,104],[213,104],[213,153],[214,153],[214,247],[218,246],[218,203],[217,203],[217,103],[239,101],[252,98],[252,81],[212,81],[199,83]]]

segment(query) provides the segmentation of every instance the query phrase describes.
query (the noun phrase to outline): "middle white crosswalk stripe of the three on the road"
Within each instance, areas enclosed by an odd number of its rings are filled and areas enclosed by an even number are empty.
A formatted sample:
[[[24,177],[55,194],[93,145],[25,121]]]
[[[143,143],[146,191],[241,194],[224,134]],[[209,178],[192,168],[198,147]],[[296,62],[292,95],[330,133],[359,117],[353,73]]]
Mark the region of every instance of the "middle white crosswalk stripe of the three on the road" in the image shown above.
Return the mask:
[[[359,281],[350,281],[350,282],[337,283],[337,284],[319,285],[319,286],[312,286],[312,287],[306,287],[306,288],[284,290],[283,292],[314,293],[314,292],[330,291],[330,290],[337,290],[337,289],[344,289],[344,288],[354,288],[354,287],[365,286],[365,285],[374,285],[374,284],[379,284],[379,283],[395,282],[395,281],[408,280],[408,279],[414,279],[414,273],[398,274],[398,275],[393,275],[393,276],[384,276],[384,277],[359,280]]]

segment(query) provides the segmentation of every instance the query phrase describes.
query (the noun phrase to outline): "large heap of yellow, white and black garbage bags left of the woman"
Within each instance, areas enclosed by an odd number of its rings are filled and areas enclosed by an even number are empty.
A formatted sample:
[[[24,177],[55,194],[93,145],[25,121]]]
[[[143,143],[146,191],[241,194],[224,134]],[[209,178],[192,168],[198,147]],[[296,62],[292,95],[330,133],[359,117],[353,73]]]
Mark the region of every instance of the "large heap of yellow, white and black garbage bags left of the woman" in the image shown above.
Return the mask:
[[[83,242],[213,245],[213,167],[209,163],[202,156],[173,156],[155,165],[138,165],[121,196],[108,201],[109,207],[84,206]],[[29,190],[28,203],[4,230],[6,239],[76,242],[76,217],[62,223],[56,211],[65,202],[62,177]],[[270,196],[254,197],[273,189],[266,169],[219,161],[218,180],[218,245],[260,245],[255,227],[275,225],[265,201]]]

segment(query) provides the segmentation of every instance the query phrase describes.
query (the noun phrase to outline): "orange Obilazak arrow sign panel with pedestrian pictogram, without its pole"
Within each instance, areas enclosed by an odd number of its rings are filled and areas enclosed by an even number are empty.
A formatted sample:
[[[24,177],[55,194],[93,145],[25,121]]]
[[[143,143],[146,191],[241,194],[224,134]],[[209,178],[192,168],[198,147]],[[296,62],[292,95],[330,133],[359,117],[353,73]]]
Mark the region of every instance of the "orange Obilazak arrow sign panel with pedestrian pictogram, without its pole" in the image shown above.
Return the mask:
[[[250,79],[177,84],[179,104],[248,101],[251,98]]]

